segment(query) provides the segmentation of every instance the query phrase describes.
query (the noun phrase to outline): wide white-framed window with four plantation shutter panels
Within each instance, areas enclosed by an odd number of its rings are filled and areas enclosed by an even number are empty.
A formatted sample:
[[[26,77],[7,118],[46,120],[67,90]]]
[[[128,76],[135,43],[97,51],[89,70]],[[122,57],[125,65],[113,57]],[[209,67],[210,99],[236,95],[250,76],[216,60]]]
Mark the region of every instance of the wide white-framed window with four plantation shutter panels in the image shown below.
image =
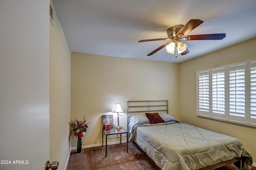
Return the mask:
[[[197,116],[256,127],[256,60],[196,72]]]

